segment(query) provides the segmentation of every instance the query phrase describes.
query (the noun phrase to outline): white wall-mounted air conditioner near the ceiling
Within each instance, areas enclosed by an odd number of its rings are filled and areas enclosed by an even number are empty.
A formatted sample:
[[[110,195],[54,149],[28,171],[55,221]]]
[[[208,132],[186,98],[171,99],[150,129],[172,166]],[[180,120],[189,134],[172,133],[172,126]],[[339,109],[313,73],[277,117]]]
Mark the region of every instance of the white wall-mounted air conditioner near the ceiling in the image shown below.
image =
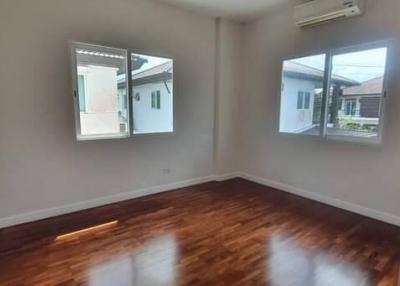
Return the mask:
[[[364,0],[312,0],[294,8],[297,26],[305,27],[361,15]]]

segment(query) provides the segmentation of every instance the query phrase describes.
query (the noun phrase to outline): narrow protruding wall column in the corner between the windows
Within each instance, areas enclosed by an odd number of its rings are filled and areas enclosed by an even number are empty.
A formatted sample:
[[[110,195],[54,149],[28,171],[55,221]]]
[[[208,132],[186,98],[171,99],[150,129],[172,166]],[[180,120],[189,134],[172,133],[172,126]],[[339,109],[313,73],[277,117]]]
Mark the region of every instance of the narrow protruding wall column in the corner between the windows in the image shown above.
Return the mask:
[[[221,19],[216,30],[215,173],[227,174],[238,170],[243,26]]]

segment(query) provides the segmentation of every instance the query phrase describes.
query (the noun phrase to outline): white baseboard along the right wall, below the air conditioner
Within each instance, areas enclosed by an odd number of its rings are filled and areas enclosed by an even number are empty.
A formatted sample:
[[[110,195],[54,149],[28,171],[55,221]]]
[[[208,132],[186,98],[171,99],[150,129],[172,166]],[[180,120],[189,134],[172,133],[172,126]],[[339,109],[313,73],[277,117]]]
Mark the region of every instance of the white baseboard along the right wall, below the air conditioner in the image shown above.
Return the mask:
[[[358,205],[358,204],[354,204],[354,203],[350,203],[350,202],[346,202],[346,201],[342,201],[339,199],[335,199],[332,197],[328,197],[325,195],[321,195],[315,192],[311,192],[311,191],[307,191],[301,188],[297,188],[291,185],[287,185],[287,184],[283,184],[274,180],[269,180],[269,179],[265,179],[265,178],[261,178],[258,176],[253,176],[247,173],[243,173],[243,172],[239,172],[239,177],[261,184],[261,185],[265,185],[277,190],[282,190],[300,197],[304,197],[310,200],[314,200],[314,201],[318,201],[327,205],[331,205],[340,209],[344,209],[353,213],[357,213],[366,217],[370,217],[376,220],[380,220],[386,223],[390,223],[396,226],[400,226],[400,217],[390,214],[390,213],[386,213],[386,212],[382,212],[382,211],[378,211],[375,209],[371,209],[362,205]]]

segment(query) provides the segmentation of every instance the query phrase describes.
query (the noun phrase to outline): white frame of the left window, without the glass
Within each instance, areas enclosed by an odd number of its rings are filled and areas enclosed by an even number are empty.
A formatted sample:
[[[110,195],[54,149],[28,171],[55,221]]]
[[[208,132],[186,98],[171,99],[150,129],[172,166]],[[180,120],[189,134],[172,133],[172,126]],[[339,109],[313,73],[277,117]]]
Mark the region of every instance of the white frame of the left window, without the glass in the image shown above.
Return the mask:
[[[133,137],[147,137],[147,136],[170,136],[176,133],[175,122],[176,122],[176,102],[175,102],[175,57],[165,54],[165,53],[153,53],[140,49],[131,48],[116,48],[114,46],[102,45],[102,44],[92,44],[89,42],[80,41],[69,41],[69,57],[70,57],[70,74],[72,82],[72,96],[74,104],[74,119],[75,119],[75,136],[77,141],[94,141],[94,140],[109,140],[109,139],[126,139]],[[80,120],[80,106],[79,106],[79,93],[78,93],[78,64],[75,51],[77,48],[82,47],[88,48],[99,48],[99,49],[109,49],[109,50],[119,50],[124,51],[126,54],[126,74],[127,74],[127,84],[126,84],[126,97],[127,97],[127,116],[128,116],[128,132],[127,134],[95,134],[95,135],[82,135],[81,134],[81,120]],[[172,130],[171,131],[158,131],[149,133],[134,133],[134,116],[133,116],[133,81],[132,77],[128,76],[132,74],[132,54],[139,54],[149,57],[161,57],[172,61],[173,72],[172,72],[172,92],[171,92],[171,108],[172,108]]]

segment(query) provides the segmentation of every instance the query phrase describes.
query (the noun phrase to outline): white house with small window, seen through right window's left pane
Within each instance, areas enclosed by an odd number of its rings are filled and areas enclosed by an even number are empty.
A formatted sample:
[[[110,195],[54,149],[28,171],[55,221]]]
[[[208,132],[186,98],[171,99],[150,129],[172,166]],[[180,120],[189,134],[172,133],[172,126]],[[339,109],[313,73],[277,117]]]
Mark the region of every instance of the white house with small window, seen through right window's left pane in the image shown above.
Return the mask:
[[[324,71],[286,61],[284,64],[281,96],[281,131],[301,133],[320,123]],[[349,87],[357,82],[332,76],[333,90]]]

